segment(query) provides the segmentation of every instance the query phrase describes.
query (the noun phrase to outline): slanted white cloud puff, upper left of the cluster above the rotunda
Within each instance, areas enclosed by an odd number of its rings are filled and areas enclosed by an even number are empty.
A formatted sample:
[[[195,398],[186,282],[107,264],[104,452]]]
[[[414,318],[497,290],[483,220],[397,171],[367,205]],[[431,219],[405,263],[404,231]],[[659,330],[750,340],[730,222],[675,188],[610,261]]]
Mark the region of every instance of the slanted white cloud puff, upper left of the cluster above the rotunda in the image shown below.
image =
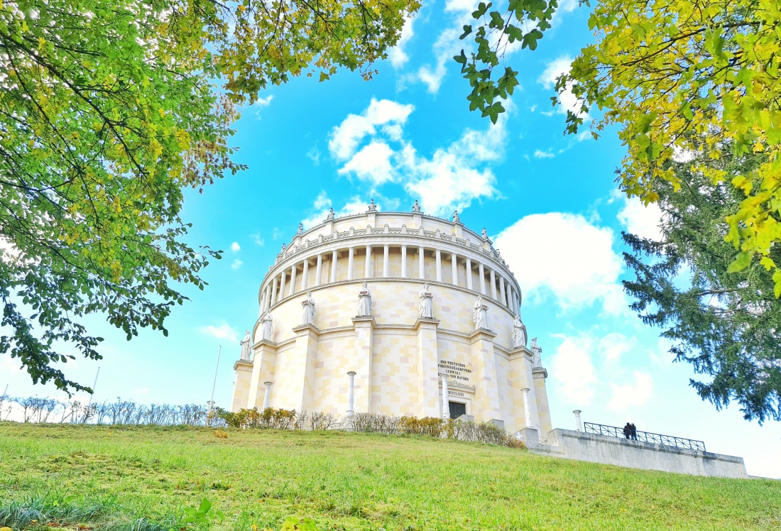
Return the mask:
[[[360,115],[351,114],[340,125],[334,127],[328,141],[331,155],[337,159],[349,159],[355,154],[358,144],[364,137],[375,133],[375,126],[387,123],[404,124],[413,105],[401,105],[391,100],[372,98],[369,107]]]

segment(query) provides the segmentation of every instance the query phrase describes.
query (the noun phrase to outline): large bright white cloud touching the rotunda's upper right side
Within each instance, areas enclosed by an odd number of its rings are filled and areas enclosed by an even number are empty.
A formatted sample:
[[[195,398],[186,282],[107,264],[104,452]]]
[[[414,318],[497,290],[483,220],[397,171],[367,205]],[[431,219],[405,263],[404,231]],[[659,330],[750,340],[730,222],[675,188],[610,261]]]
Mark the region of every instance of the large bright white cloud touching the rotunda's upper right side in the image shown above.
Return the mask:
[[[495,238],[525,294],[552,294],[562,308],[601,301],[619,314],[626,297],[619,284],[622,261],[613,251],[615,234],[583,216],[549,212],[525,216]]]

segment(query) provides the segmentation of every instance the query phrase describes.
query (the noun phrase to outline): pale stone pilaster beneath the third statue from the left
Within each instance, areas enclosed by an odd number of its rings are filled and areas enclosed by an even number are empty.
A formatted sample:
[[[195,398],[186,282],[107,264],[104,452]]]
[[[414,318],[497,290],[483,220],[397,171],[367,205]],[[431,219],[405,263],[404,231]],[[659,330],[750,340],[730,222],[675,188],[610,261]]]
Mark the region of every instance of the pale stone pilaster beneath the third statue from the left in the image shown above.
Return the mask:
[[[280,404],[280,407],[296,411],[312,411],[315,406],[315,363],[317,362],[317,342],[320,331],[314,325],[301,325],[293,329],[295,346],[286,351],[290,357],[289,367],[294,368],[293,378],[287,380],[289,390],[285,393],[292,397],[293,404]],[[280,383],[277,380],[277,383]]]

